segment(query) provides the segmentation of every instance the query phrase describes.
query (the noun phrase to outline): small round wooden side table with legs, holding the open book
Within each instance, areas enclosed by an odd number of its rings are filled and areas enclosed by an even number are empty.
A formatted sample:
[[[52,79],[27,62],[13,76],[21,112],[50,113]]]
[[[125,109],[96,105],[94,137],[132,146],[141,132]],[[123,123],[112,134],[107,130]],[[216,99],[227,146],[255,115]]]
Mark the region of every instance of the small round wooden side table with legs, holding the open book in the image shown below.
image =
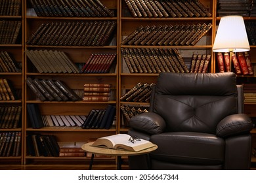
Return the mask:
[[[91,156],[91,161],[89,165],[89,169],[92,169],[93,166],[93,159],[95,157],[95,154],[102,154],[102,155],[107,155],[107,156],[117,156],[117,170],[121,169],[121,156],[138,156],[141,154],[148,154],[150,152],[153,152],[158,148],[158,146],[154,146],[152,148],[147,148],[145,150],[141,150],[139,152],[132,152],[132,151],[127,151],[127,150],[115,150],[115,149],[110,149],[110,148],[99,148],[99,147],[94,147],[91,146],[93,142],[89,142],[86,144],[83,144],[81,148],[85,152],[89,152],[92,154]]]

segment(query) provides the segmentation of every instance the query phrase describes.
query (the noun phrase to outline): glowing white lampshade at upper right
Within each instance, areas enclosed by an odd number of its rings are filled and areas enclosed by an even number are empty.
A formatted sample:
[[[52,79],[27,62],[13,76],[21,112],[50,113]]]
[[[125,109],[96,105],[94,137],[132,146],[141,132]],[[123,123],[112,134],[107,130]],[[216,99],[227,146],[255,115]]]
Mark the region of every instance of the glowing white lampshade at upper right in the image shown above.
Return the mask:
[[[213,52],[249,51],[249,42],[242,16],[223,16],[217,29]]]

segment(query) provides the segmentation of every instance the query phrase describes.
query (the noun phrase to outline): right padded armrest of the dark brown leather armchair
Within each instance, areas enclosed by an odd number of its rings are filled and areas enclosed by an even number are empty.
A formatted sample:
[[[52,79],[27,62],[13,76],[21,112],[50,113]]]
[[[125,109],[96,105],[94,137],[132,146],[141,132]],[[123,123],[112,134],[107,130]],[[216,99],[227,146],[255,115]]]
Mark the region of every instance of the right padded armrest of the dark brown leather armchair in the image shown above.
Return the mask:
[[[216,135],[218,137],[229,137],[249,133],[253,128],[251,118],[246,114],[232,114],[223,118],[217,125]]]

